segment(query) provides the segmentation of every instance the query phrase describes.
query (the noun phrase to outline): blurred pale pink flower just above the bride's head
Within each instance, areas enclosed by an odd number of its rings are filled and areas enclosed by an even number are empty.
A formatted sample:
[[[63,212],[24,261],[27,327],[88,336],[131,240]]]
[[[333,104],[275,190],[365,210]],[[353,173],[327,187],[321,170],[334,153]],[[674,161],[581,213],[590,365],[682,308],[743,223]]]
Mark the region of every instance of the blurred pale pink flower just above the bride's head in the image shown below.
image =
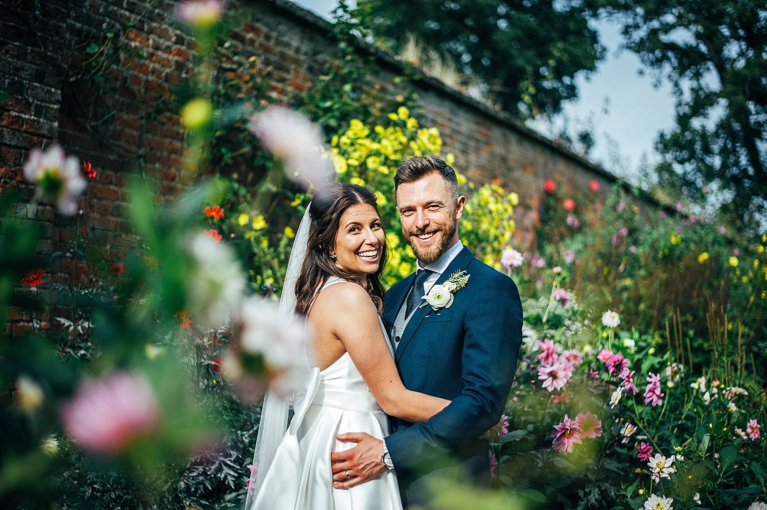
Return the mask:
[[[321,153],[324,137],[308,117],[285,107],[268,107],[253,117],[250,130],[269,152],[285,163],[285,175],[304,188],[319,189],[332,175]]]

